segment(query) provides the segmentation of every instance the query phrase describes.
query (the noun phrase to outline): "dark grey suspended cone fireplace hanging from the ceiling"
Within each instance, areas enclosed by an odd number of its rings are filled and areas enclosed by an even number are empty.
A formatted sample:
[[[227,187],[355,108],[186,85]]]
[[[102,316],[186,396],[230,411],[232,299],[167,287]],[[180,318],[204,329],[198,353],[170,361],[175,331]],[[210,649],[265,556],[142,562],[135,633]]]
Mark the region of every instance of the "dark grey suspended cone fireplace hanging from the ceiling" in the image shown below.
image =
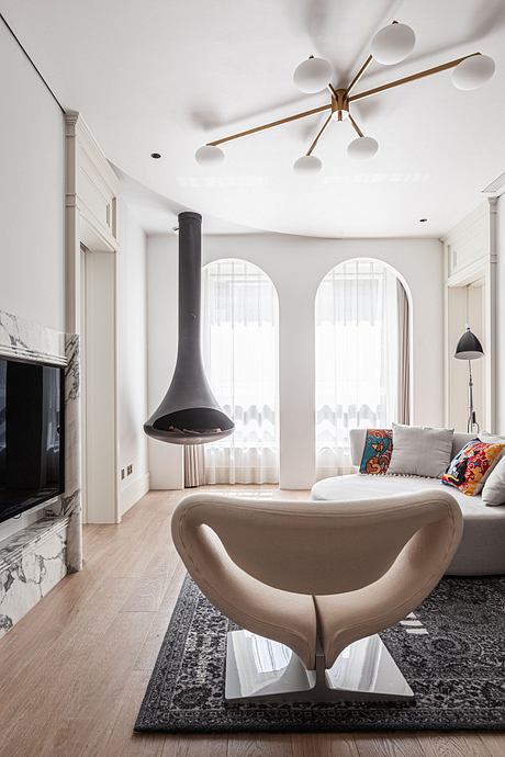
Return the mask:
[[[172,444],[204,444],[233,433],[234,422],[212,394],[200,343],[202,216],[179,213],[179,344],[171,384],[144,423],[148,437]]]

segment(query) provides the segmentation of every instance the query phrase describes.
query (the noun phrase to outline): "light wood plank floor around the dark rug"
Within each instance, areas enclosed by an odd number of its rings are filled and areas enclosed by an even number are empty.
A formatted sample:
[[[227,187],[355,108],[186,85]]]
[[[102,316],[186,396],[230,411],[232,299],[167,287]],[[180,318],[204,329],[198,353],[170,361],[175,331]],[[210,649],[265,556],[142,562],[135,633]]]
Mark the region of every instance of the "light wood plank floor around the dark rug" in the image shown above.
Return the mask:
[[[210,487],[231,490],[232,487]],[[234,494],[271,494],[234,487]],[[86,565],[0,640],[1,757],[503,757],[498,733],[133,734],[184,570],[153,492],[121,526],[85,529]]]

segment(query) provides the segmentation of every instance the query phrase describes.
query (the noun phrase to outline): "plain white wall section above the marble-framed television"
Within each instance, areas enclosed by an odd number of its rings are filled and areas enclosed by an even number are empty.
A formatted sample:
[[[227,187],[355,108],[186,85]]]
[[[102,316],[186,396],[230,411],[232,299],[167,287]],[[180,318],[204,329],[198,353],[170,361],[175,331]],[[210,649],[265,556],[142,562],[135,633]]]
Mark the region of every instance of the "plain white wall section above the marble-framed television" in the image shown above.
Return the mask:
[[[0,21],[0,307],[64,330],[64,122]]]

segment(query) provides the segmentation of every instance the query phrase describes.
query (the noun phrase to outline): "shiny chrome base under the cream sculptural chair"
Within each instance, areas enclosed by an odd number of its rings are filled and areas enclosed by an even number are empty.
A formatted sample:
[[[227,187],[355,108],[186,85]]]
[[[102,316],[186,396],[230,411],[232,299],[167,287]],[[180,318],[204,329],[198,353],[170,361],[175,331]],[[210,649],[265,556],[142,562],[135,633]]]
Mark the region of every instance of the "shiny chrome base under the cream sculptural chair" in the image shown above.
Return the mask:
[[[226,647],[228,702],[408,701],[414,692],[378,634],[360,639],[325,669],[318,651],[307,670],[284,644],[231,631]]]

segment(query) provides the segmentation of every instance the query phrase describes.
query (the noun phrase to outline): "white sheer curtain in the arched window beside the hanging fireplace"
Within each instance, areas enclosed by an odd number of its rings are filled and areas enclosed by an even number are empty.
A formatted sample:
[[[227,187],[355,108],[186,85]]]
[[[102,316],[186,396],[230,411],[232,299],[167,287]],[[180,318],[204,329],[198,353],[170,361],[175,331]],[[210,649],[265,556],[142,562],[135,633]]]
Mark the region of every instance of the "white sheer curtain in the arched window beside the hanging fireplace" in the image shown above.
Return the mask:
[[[203,354],[209,381],[235,421],[205,444],[206,484],[279,481],[278,303],[270,279],[242,260],[203,269]]]

